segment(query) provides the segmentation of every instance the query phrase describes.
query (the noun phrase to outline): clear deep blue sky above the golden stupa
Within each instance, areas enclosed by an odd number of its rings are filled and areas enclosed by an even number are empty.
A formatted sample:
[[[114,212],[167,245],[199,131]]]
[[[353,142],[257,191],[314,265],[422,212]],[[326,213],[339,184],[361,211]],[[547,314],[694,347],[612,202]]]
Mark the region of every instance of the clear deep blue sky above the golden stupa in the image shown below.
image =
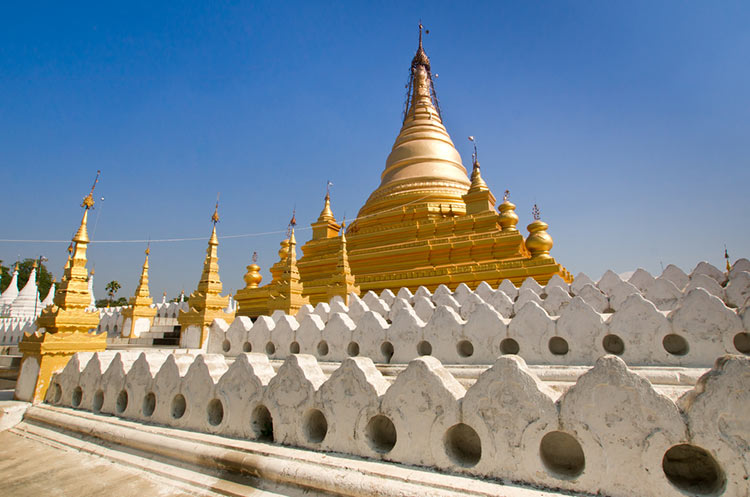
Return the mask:
[[[151,292],[192,291],[219,235],[300,245],[322,208],[352,219],[401,125],[422,19],[464,164],[538,203],[552,255],[598,278],[750,256],[750,3],[18,2],[0,7],[2,239],[69,240],[102,176],[95,240],[154,243]],[[524,229],[525,232],[525,229]],[[221,239],[227,292],[283,233]],[[59,278],[67,243],[0,242]],[[145,243],[98,243],[96,293],[132,295]],[[301,255],[301,253],[299,253]]]

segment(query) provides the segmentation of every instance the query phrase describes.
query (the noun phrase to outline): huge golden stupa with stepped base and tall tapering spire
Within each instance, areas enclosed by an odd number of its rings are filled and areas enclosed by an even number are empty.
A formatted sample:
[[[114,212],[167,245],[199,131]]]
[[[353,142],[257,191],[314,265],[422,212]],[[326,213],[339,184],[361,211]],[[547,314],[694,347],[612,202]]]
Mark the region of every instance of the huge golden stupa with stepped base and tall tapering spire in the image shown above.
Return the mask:
[[[468,176],[443,125],[432,78],[420,25],[403,125],[380,186],[345,234],[326,193],[323,211],[312,223],[312,240],[301,247],[304,255],[295,261],[304,303],[327,302],[334,294],[346,299],[349,292],[402,287],[434,290],[443,284],[455,289],[465,283],[475,288],[482,281],[499,285],[504,279],[520,285],[529,277],[543,285],[555,274],[572,281],[549,255],[553,242],[539,210],[535,207],[524,239],[507,190],[495,208],[476,153]],[[264,301],[270,286],[258,287],[250,275],[249,271],[248,286],[237,293],[238,314],[268,314],[270,306]]]

